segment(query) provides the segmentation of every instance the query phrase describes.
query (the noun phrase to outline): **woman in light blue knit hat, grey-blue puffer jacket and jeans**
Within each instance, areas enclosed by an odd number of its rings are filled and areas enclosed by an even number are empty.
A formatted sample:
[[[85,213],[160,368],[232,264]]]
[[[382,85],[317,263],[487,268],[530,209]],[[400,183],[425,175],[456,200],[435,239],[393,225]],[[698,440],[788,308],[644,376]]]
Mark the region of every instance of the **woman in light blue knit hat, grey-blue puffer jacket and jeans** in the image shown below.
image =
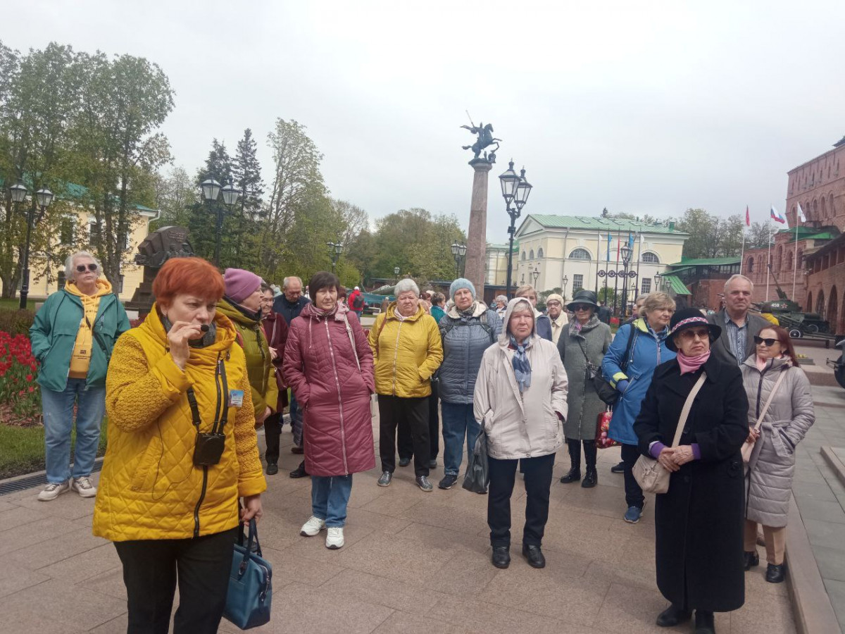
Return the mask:
[[[466,451],[472,451],[481,429],[472,413],[472,394],[484,351],[502,329],[499,315],[476,300],[472,281],[459,277],[449,287],[452,306],[440,320],[443,364],[438,371],[443,424],[443,470],[440,489],[451,489]]]

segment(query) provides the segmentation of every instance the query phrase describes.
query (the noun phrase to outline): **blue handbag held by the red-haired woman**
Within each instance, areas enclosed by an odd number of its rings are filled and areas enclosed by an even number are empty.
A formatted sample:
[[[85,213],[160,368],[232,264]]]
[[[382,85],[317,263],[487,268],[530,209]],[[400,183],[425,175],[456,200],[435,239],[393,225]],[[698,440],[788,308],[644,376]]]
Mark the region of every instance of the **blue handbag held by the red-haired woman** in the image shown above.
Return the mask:
[[[229,573],[224,618],[242,630],[263,626],[270,621],[272,579],[273,567],[261,555],[258,528],[255,520],[250,520],[247,543],[243,544],[242,527],[232,552],[232,571]]]

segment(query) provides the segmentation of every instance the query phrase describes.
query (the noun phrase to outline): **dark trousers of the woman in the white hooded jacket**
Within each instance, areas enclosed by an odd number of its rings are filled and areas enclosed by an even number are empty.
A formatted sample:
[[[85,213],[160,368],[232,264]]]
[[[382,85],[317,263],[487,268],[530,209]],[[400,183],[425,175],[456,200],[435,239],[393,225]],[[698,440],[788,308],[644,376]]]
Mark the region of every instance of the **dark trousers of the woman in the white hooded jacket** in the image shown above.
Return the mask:
[[[526,525],[522,543],[541,546],[548,521],[548,495],[552,489],[554,454],[520,460],[488,458],[490,488],[487,498],[487,523],[492,546],[510,546],[510,495],[514,491],[516,463],[525,474]]]

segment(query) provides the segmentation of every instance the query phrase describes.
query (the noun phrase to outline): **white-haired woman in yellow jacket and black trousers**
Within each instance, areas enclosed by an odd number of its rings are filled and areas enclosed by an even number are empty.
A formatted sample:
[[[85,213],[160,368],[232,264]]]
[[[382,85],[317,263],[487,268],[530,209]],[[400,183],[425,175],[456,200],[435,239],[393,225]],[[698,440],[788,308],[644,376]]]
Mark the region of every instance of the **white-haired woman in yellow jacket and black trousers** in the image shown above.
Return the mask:
[[[396,301],[379,314],[369,332],[375,363],[375,391],[379,395],[379,486],[390,486],[396,468],[396,428],[411,428],[414,475],[417,486],[431,491],[428,482],[428,396],[431,375],[443,361],[443,344],[434,318],[419,302],[419,287],[411,279],[396,284]],[[400,434],[400,452],[403,451]],[[410,453],[410,447],[404,448]],[[407,456],[406,453],[406,456]],[[410,458],[401,456],[400,465]]]

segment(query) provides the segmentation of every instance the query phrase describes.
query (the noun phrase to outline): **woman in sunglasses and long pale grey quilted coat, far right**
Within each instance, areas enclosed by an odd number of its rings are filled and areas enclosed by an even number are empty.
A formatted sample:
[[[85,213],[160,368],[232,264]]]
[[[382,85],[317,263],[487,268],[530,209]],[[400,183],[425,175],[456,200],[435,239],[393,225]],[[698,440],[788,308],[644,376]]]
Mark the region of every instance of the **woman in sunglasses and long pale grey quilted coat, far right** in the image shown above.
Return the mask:
[[[783,550],[789,495],[795,472],[795,445],[815,422],[810,381],[798,367],[789,334],[779,326],[767,326],[754,337],[755,354],[742,365],[743,384],[749,402],[749,437],[754,443],[745,471],[745,570],[760,563],[757,555],[757,524],[766,539],[766,581],[783,581]],[[785,374],[784,374],[785,373]],[[755,432],[778,377],[784,374],[766,416]]]

